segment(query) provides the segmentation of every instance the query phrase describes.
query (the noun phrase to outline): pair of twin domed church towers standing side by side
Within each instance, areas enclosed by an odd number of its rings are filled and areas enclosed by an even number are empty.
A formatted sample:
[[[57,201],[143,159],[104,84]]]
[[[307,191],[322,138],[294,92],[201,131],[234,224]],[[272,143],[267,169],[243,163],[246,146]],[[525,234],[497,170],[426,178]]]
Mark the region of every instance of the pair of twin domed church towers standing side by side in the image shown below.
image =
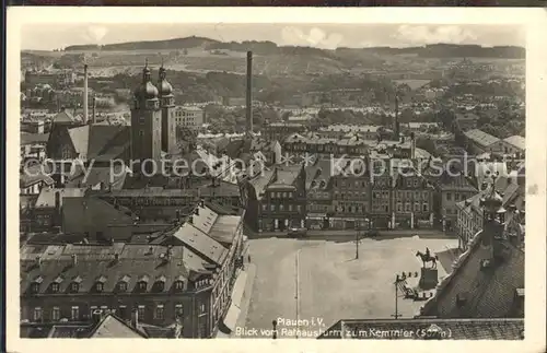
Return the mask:
[[[175,97],[173,86],[167,81],[166,70],[160,67],[154,84],[152,73],[146,62],[142,81],[133,92],[131,107],[131,162],[133,173],[153,173],[153,165],[162,160],[162,152],[177,152]],[[140,162],[140,163],[138,163]]]

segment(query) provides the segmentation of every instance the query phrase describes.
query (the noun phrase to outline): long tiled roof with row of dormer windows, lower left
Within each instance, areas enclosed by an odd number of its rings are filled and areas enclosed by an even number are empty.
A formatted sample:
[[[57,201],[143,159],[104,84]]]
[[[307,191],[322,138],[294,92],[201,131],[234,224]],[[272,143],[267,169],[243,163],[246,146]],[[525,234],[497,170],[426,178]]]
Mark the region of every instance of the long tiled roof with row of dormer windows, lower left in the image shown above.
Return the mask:
[[[166,278],[164,292],[171,290],[178,275],[188,276],[189,271],[200,271],[202,264],[186,261],[185,254],[191,252],[186,246],[175,245],[171,248],[168,261],[164,260],[167,247],[163,245],[118,244],[108,246],[96,245],[25,245],[21,248],[21,293],[26,293],[33,281],[40,276],[40,293],[47,293],[50,284],[61,276],[59,292],[70,289],[74,279],[80,278],[79,293],[94,290],[95,281],[105,278],[104,292],[112,293],[121,278],[128,275],[128,291],[133,291],[139,276],[147,274],[152,279],[160,275]],[[118,260],[115,255],[118,255]],[[72,256],[75,256],[75,263]],[[36,258],[40,258],[37,263]],[[198,257],[198,256],[196,256]],[[200,259],[200,263],[207,260]],[[149,282],[148,291],[156,291],[153,281]]]

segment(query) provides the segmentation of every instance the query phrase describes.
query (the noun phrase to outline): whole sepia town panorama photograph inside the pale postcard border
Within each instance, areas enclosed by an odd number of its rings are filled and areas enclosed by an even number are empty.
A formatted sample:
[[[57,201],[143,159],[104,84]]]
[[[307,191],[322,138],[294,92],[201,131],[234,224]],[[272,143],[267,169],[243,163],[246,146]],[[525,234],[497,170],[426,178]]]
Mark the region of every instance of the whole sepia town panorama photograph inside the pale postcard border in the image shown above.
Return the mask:
[[[22,338],[524,338],[521,28],[142,26],[22,33]]]

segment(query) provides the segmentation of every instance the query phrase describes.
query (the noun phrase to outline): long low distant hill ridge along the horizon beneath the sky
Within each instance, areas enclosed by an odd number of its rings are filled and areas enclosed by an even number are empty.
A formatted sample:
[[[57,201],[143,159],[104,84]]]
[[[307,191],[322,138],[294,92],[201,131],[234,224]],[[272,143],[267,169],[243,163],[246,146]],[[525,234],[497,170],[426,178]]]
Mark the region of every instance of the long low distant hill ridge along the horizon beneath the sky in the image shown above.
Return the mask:
[[[450,57],[480,57],[480,58],[525,58],[525,49],[516,46],[482,47],[479,45],[433,44],[422,47],[392,48],[338,48],[336,50],[318,49],[312,47],[278,46],[268,40],[245,42],[219,42],[206,37],[186,37],[166,40],[129,42],[119,44],[73,45],[65,48],[65,51],[124,51],[124,50],[177,50],[201,47],[206,50],[253,50],[257,55],[309,55],[326,58],[336,58],[340,54],[362,52],[376,55],[417,55],[423,58],[450,58]]]

